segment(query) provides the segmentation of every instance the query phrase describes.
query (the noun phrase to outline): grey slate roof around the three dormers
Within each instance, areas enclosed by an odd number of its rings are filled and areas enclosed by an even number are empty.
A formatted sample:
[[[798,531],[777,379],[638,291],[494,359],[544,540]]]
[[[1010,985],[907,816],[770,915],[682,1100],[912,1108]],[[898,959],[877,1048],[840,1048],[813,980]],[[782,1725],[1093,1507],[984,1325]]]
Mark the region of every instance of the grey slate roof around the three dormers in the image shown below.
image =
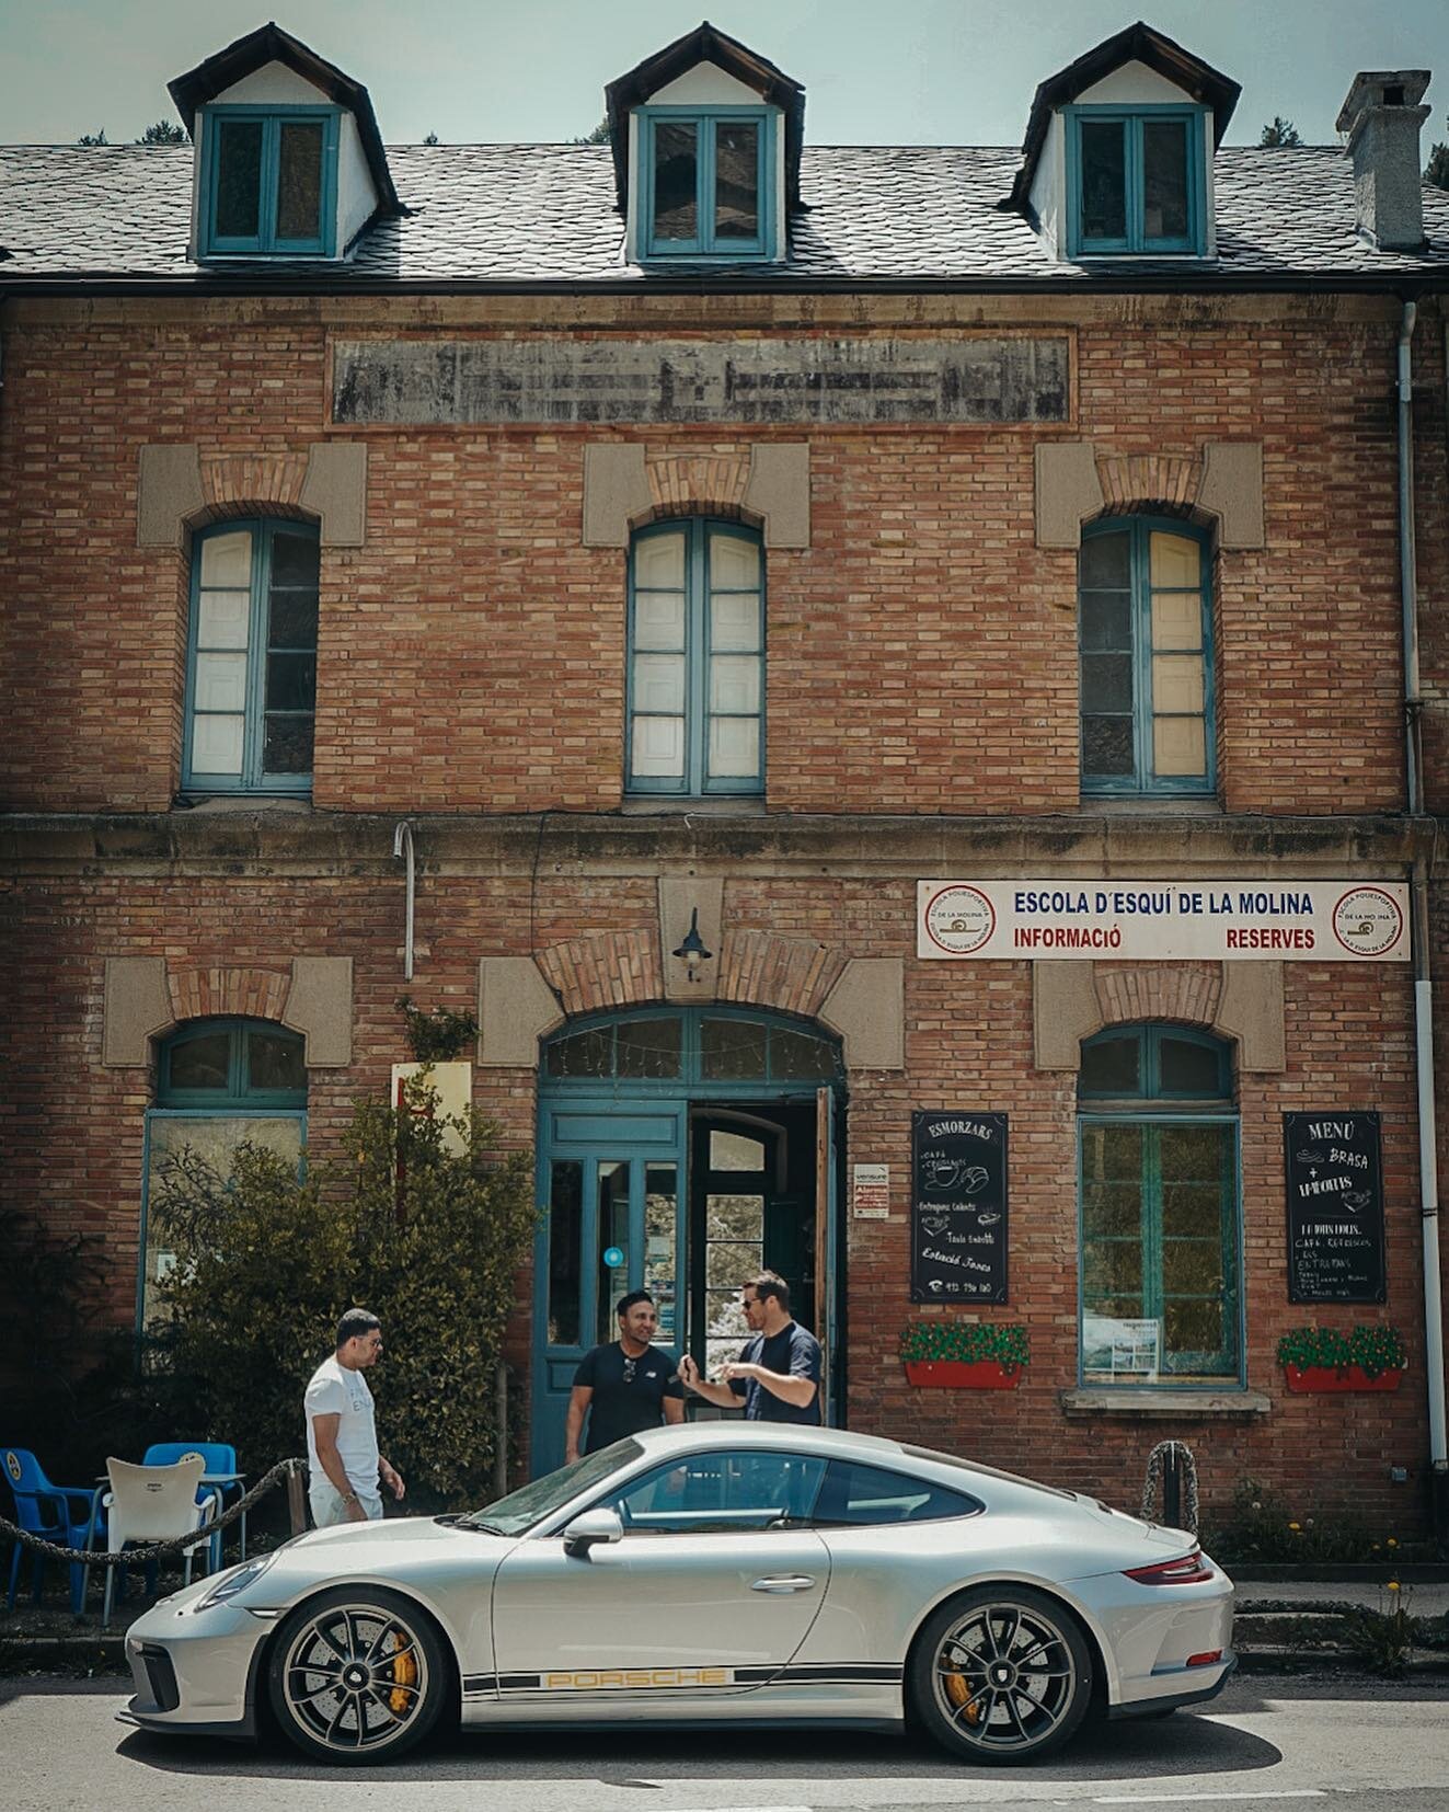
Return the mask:
[[[404,145],[388,150],[402,219],[375,221],[341,265],[187,259],[190,145],[0,145],[0,290],[27,283],[386,290],[449,286],[719,290],[855,286],[1237,284],[1449,277],[1449,192],[1424,190],[1427,248],[1377,252],[1355,230],[1337,145],[1219,150],[1215,259],[1060,265],[998,203],[1022,152],[806,147],[802,212],[773,265],[641,270],[623,261],[607,145]]]

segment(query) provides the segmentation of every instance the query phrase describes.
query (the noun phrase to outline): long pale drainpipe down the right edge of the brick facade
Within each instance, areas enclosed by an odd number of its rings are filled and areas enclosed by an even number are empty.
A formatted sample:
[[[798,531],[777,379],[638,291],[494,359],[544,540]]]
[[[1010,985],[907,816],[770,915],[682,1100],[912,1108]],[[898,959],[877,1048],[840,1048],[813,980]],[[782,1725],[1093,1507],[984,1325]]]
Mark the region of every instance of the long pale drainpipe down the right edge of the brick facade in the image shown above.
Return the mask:
[[[1418,571],[1415,558],[1413,332],[1416,306],[1398,326],[1398,583],[1404,607],[1404,768],[1409,817],[1424,810],[1418,719]],[[1418,1091],[1418,1198],[1424,1232],[1424,1370],[1429,1381],[1429,1491],[1435,1540],[1449,1542],[1449,1437],[1444,1410],[1444,1301],[1438,1252],[1438,1158],[1435,1151],[1435,986],[1429,977],[1429,870],[1415,855],[1409,881],[1415,957],[1415,1080]]]

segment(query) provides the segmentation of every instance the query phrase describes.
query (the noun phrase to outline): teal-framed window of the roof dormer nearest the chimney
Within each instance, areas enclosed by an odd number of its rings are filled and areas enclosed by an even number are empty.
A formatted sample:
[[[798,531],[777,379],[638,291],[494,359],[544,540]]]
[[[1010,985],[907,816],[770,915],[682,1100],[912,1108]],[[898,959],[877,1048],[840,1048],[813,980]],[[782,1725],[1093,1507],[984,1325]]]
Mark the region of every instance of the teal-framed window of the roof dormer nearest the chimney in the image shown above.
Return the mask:
[[[1199,109],[1067,109],[1069,255],[1204,250]]]

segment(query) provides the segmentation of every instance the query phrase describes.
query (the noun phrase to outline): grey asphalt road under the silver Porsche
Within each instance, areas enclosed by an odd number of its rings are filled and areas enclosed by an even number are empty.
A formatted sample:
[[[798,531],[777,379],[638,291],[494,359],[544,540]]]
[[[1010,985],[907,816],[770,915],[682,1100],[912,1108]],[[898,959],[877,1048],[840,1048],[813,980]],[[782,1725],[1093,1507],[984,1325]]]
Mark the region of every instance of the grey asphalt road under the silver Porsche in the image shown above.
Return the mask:
[[[1233,1682],[1204,1712],[1110,1725],[1032,1769],[962,1767],[909,1738],[744,1730],[455,1738],[377,1772],[275,1743],[145,1736],[121,1682],[0,1682],[7,1812],[936,1812],[1183,1805],[1212,1812],[1449,1812],[1449,1687]]]

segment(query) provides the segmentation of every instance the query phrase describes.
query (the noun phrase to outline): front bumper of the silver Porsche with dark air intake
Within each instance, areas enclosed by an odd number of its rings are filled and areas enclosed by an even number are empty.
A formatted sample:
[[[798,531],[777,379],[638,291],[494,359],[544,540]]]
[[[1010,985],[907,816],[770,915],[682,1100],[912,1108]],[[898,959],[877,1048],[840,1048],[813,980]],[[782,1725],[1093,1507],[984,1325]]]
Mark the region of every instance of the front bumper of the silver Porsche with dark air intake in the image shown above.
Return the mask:
[[[273,1625],[232,1604],[196,1611],[199,1596],[178,1593],[127,1631],[136,1692],[121,1716],[145,1730],[255,1736],[257,1672]]]

